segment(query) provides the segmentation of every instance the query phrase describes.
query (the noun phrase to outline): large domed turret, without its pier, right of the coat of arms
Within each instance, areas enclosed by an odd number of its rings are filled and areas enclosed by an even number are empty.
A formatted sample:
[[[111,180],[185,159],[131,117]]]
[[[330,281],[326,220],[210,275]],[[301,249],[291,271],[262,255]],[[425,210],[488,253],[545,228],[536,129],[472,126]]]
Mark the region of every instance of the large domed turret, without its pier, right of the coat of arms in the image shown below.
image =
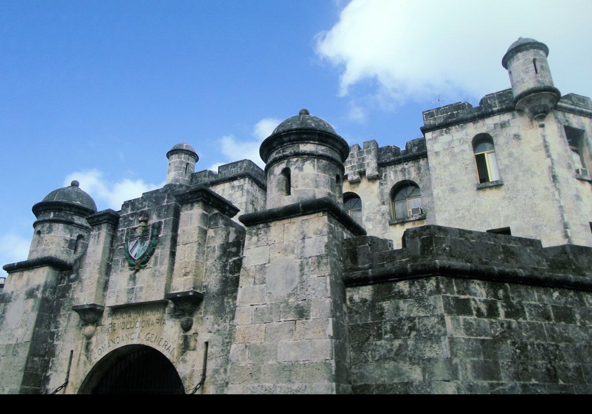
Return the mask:
[[[259,154],[266,163],[268,209],[321,197],[342,202],[349,145],[307,109],[279,124]]]

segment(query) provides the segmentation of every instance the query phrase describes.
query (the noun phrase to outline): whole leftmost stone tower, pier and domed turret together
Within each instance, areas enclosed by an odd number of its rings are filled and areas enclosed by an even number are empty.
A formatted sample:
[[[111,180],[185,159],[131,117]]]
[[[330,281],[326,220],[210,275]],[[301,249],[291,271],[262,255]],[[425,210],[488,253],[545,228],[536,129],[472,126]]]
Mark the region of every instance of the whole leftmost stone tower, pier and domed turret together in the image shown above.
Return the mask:
[[[92,238],[89,219],[96,205],[78,186],[73,181],[33,206],[37,221],[28,259],[4,266],[9,274],[0,297],[5,310],[0,312],[4,392],[43,390],[53,357],[50,349],[60,338],[51,330],[52,321],[64,312],[62,304],[72,295],[70,280],[76,277],[72,269],[81,264]]]

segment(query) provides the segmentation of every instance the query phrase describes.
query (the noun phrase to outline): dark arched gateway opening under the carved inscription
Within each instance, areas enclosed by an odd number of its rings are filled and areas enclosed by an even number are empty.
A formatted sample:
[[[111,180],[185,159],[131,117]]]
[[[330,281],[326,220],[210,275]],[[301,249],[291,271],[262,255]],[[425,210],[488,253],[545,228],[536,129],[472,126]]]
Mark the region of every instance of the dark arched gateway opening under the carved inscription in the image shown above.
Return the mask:
[[[173,364],[154,348],[127,345],[105,355],[84,380],[82,394],[185,394]]]

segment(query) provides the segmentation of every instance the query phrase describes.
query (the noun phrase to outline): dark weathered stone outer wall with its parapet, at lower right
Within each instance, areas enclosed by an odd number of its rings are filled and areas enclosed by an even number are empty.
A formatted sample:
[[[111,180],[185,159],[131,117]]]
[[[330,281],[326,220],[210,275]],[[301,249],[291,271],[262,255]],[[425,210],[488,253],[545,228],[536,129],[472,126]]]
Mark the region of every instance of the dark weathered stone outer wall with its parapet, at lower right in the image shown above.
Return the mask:
[[[346,244],[353,393],[592,392],[590,248],[435,226]]]

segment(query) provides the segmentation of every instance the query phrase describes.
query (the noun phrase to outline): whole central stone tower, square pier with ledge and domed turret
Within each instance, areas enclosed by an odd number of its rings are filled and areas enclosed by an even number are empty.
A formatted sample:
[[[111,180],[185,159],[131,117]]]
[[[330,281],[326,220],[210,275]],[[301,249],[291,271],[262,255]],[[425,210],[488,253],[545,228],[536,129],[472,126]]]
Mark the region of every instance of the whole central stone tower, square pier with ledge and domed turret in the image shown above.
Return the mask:
[[[343,239],[348,144],[303,109],[261,144],[265,211],[244,214],[230,393],[349,392]]]

